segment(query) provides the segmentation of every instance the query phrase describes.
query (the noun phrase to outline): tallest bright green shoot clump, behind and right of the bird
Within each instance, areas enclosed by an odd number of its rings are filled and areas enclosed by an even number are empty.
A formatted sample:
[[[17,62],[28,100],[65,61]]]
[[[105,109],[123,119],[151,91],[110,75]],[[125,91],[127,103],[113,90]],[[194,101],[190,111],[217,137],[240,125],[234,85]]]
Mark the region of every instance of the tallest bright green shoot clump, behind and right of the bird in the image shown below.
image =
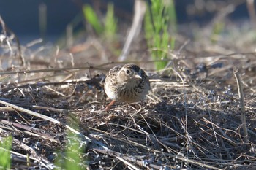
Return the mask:
[[[171,26],[171,27],[170,27]],[[167,58],[169,46],[174,48],[175,38],[170,37],[169,31],[176,32],[176,11],[173,0],[151,0],[148,5],[144,20],[146,40],[154,60],[164,60]],[[171,38],[171,41],[170,41]],[[157,70],[164,69],[167,61],[156,62]]]

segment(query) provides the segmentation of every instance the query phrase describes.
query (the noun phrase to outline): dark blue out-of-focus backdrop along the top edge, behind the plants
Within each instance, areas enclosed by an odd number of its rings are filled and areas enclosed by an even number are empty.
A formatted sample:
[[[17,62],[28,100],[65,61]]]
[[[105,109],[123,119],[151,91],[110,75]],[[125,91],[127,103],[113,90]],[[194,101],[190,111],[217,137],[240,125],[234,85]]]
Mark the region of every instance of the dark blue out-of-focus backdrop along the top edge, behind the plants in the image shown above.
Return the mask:
[[[65,34],[69,23],[76,23],[76,29],[84,28],[83,4],[91,4],[94,9],[104,14],[108,2],[110,0],[1,0],[0,15],[7,26],[19,37],[21,43],[27,43],[42,36],[45,36],[47,41],[56,42]],[[118,22],[131,23],[135,1],[112,0],[111,2],[114,4]],[[177,22],[178,24],[206,25],[227,6],[234,8],[233,12],[227,15],[230,20],[236,22],[249,20],[245,0],[176,0]]]

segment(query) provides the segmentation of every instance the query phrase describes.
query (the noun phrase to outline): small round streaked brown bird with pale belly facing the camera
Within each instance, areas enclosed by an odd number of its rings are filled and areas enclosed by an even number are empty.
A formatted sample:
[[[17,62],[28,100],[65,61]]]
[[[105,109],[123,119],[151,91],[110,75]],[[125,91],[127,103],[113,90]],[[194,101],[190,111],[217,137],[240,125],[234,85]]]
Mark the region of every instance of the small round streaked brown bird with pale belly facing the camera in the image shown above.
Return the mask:
[[[105,77],[104,89],[112,100],[105,108],[110,109],[115,101],[132,103],[143,101],[150,90],[150,83],[146,72],[139,66],[127,63],[114,66]]]

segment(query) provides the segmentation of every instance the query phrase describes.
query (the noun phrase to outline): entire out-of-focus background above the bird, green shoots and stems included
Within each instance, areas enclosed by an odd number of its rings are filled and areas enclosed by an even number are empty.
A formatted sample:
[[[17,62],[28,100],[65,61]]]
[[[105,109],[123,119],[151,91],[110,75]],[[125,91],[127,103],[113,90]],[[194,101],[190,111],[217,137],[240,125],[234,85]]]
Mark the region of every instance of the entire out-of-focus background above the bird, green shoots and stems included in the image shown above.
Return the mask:
[[[159,70],[181,58],[193,69],[255,51],[253,0],[1,0],[0,16],[3,69],[136,61]]]

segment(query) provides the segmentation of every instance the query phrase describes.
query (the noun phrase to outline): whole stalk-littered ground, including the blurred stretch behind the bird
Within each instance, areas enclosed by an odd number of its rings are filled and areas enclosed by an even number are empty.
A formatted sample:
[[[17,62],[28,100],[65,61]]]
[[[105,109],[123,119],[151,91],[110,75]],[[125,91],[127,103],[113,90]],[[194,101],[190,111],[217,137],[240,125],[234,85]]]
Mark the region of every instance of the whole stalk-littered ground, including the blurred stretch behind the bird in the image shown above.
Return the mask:
[[[135,39],[122,63],[146,70],[150,93],[108,112],[102,82],[120,64],[112,48],[124,40],[32,49],[8,36],[10,46],[0,44],[0,139],[12,136],[12,169],[53,169],[56,155],[72,159],[70,140],[83,148],[74,152],[84,169],[256,169],[255,32],[229,23],[212,41],[209,26],[187,27],[159,72],[143,36]]]

